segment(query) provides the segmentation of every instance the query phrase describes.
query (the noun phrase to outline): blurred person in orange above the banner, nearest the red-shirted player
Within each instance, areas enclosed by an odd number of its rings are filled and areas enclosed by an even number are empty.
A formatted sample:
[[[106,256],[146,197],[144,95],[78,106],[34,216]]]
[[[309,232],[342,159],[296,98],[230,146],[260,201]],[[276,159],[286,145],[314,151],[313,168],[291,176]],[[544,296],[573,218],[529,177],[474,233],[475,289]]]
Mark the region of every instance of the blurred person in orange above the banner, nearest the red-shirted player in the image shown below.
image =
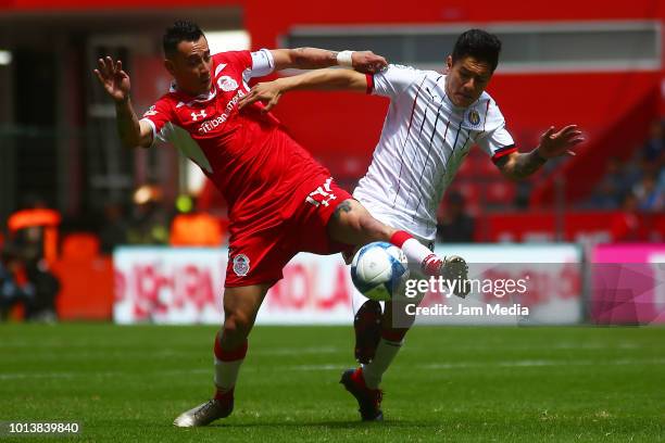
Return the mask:
[[[196,199],[180,195],[176,201],[176,215],[171,225],[173,246],[218,246],[223,235],[219,221],[208,213],[196,208]]]

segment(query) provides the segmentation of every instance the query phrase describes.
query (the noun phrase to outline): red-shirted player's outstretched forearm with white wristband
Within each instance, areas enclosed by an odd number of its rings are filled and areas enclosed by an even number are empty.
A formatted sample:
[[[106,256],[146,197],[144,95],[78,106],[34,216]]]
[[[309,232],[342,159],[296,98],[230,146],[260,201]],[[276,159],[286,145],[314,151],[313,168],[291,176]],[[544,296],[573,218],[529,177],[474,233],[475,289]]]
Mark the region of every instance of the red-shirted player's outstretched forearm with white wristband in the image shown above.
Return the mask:
[[[386,67],[386,59],[372,51],[335,52],[317,48],[274,49],[275,71],[317,69],[330,66],[352,67],[361,73],[376,73]]]

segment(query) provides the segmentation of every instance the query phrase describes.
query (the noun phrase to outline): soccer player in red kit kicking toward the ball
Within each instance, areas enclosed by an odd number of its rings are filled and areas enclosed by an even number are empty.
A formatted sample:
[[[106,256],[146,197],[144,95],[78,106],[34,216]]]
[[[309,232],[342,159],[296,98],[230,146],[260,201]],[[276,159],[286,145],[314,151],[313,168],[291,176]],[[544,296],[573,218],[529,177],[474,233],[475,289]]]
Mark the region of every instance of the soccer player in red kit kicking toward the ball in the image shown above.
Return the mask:
[[[201,29],[183,21],[166,30],[163,46],[164,64],[174,83],[140,119],[131,106],[129,76],[122,62],[100,59],[95,74],[115,102],[125,147],[171,141],[201,167],[228,203],[224,324],[214,343],[216,390],[212,400],[174,421],[179,427],[205,426],[231,413],[234,388],[259,307],[298,252],[332,254],[389,241],[428,275],[442,273],[444,262],[405,231],[374,219],[263,104],[238,109],[252,77],[337,64],[375,73],[386,66],[384,58],[369,51],[336,53],[314,48],[211,55]]]

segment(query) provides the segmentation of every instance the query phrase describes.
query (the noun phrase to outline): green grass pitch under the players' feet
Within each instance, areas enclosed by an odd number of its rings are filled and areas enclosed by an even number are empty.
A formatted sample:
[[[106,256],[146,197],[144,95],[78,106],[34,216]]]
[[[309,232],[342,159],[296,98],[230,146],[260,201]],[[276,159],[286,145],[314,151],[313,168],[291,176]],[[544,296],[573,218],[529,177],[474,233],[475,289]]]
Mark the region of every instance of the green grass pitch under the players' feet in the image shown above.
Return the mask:
[[[663,328],[416,328],[386,421],[362,423],[338,383],[351,328],[256,327],[231,417],[176,429],[212,392],[214,330],[0,325],[0,420],[100,442],[665,441]]]

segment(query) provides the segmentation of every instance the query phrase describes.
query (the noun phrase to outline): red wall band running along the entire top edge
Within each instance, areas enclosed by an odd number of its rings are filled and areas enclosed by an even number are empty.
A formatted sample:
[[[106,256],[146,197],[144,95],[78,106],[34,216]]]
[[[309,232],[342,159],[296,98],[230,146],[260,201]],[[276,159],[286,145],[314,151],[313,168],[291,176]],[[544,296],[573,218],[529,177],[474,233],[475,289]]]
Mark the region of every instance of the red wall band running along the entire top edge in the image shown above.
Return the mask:
[[[560,0],[556,4],[522,0],[418,0],[416,8],[398,1],[312,2],[311,0],[0,0],[0,12],[95,11],[99,9],[224,8],[244,9],[244,22],[256,47],[273,47],[275,36],[293,24],[441,24],[491,22],[552,22],[592,20],[640,20],[665,17],[660,0],[607,2],[604,0]]]

